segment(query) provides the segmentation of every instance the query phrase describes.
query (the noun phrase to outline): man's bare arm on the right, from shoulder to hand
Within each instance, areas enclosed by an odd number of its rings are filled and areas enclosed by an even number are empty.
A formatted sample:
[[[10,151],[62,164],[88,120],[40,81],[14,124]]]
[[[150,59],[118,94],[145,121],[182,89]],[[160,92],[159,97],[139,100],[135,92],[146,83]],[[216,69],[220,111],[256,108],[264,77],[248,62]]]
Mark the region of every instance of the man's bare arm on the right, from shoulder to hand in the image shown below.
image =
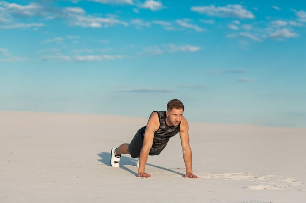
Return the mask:
[[[192,173],[192,153],[189,145],[189,133],[188,133],[188,122],[183,117],[180,125],[180,138],[181,145],[183,148],[183,158],[186,166],[186,175],[185,178],[198,178],[196,175]]]

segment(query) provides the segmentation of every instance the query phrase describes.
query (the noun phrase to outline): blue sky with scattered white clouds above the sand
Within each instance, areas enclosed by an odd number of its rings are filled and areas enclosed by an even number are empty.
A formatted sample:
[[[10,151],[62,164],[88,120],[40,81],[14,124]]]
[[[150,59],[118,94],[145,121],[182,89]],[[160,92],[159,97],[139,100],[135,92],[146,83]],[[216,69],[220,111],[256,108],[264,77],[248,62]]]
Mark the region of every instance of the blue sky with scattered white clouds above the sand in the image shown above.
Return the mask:
[[[306,2],[0,1],[0,111],[306,128]]]

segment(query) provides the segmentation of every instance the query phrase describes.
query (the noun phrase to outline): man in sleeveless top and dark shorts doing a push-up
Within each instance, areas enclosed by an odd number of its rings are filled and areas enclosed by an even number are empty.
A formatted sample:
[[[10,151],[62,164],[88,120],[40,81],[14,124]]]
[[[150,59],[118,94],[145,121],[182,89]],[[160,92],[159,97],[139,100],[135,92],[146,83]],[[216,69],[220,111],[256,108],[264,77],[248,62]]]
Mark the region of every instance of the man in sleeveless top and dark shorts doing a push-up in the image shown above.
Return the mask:
[[[192,154],[189,146],[188,123],[183,117],[184,105],[178,99],[173,99],[167,104],[167,111],[154,111],[151,113],[147,126],[138,130],[130,144],[124,143],[111,150],[111,166],[119,167],[121,154],[130,154],[137,158],[137,177],[148,178],[145,173],[148,155],[159,155],[166,147],[169,139],[180,134],[183,148],[183,158],[186,166],[185,178],[198,178],[192,173]],[[139,164],[139,165],[138,165]]]

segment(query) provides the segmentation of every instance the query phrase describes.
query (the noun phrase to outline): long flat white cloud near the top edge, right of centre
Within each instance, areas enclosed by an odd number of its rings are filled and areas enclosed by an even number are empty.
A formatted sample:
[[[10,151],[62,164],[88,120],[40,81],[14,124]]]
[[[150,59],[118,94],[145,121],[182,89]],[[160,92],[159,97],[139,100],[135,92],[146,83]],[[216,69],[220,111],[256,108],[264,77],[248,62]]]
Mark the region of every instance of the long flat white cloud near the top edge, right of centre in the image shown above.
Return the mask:
[[[218,17],[231,17],[231,18],[240,18],[240,19],[254,19],[255,16],[251,11],[244,9],[241,5],[227,5],[224,7],[215,5],[209,6],[193,6],[191,7],[192,11],[195,11],[200,14],[206,14],[209,16],[218,16]]]

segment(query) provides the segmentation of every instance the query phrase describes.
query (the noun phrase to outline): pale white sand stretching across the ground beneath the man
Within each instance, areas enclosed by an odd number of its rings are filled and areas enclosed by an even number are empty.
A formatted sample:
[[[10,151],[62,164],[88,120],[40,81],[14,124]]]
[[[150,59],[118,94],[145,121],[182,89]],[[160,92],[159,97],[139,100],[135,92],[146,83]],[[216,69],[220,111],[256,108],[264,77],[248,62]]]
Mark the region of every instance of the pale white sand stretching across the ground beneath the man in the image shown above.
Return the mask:
[[[305,203],[306,129],[190,122],[193,170],[179,135],[150,156],[109,166],[147,118],[0,111],[0,203]]]

